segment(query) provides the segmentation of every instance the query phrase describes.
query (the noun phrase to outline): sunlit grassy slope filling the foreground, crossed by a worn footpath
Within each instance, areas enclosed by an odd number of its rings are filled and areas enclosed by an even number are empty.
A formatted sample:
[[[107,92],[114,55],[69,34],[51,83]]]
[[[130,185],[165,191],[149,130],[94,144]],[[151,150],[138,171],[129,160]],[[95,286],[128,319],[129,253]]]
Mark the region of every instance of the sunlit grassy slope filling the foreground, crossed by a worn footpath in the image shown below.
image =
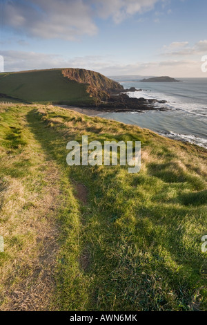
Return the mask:
[[[207,152],[115,121],[1,105],[1,310],[206,310]],[[141,140],[141,171],[69,167],[70,140]]]

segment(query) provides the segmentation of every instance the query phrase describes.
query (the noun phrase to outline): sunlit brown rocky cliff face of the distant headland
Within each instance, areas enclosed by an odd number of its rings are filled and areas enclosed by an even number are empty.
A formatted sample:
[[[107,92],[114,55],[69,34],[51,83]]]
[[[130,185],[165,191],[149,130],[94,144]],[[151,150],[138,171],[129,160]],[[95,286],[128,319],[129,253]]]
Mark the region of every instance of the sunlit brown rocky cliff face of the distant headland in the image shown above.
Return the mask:
[[[101,100],[106,100],[110,93],[124,90],[124,87],[118,82],[95,71],[79,68],[65,68],[62,73],[64,77],[68,77],[70,80],[74,80],[81,84],[88,84],[88,93],[90,93],[92,97],[97,97]]]

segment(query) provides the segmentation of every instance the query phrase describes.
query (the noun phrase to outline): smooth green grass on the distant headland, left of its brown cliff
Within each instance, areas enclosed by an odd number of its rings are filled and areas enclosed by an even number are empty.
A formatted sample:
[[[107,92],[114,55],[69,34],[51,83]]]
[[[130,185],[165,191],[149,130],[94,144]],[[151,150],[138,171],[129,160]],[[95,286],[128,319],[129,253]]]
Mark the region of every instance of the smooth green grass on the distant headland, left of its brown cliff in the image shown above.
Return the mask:
[[[0,74],[0,89],[8,97],[2,102],[49,102],[59,104],[92,104],[94,100],[86,92],[87,84],[68,80],[62,69],[46,71],[26,71],[21,73]]]

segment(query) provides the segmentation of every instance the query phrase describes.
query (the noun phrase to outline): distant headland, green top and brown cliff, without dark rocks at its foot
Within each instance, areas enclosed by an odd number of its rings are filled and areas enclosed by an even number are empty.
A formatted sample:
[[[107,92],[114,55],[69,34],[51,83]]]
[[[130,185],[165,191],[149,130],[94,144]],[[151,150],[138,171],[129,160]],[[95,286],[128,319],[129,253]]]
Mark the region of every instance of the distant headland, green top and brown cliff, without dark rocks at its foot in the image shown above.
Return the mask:
[[[114,87],[121,85],[83,69],[0,73],[1,102],[95,104],[100,92]]]

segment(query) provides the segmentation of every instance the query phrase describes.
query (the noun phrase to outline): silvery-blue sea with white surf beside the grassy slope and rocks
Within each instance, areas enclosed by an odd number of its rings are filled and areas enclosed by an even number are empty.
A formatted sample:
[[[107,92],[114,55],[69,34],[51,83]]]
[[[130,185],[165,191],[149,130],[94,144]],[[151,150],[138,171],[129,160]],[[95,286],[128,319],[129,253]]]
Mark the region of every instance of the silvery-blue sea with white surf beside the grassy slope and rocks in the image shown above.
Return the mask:
[[[166,111],[143,113],[100,113],[99,116],[150,129],[162,136],[182,140],[207,149],[207,78],[177,78],[180,82],[141,82],[135,77],[121,80],[124,86],[141,91],[128,93],[130,97],[166,100],[156,104]]]

